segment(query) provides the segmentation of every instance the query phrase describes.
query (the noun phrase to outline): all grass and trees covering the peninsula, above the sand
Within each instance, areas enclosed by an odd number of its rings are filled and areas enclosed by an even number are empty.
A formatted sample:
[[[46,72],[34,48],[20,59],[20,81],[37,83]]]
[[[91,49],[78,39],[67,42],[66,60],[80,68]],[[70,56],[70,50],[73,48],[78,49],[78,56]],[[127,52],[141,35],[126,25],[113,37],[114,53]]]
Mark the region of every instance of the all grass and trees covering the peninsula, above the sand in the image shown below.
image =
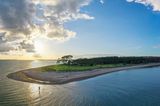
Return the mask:
[[[43,67],[43,71],[86,71],[99,68],[115,68],[136,64],[158,63],[160,57],[99,57],[72,59],[72,55],[66,55],[57,60],[58,65]]]

